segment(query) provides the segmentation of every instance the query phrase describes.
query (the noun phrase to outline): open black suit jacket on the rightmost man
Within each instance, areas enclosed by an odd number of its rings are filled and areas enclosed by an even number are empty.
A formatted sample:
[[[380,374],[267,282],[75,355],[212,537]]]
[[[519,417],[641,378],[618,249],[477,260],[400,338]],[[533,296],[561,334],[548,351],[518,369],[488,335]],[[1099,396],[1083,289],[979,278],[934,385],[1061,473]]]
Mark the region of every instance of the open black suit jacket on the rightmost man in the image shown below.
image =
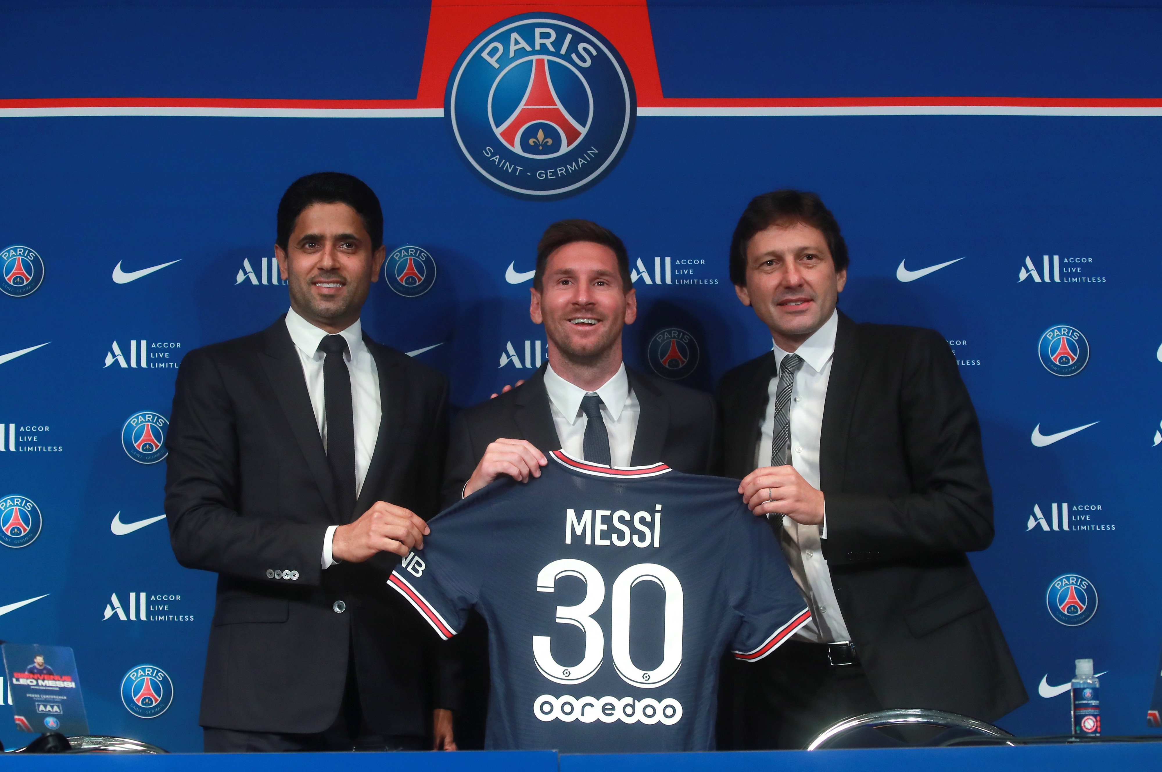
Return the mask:
[[[755,469],[774,353],[723,377],[723,466]],[[839,315],[819,448],[823,553],[885,708],[992,721],[1028,696],[966,552],[992,542],[981,429],[934,330]]]

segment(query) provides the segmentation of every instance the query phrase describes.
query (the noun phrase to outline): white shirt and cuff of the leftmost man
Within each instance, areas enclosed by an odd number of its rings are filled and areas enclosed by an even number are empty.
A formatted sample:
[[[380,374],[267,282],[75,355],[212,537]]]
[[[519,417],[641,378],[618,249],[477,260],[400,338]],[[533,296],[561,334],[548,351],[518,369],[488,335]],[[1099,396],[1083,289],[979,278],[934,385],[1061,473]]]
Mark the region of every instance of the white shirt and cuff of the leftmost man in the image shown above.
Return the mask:
[[[299,352],[302,374],[307,379],[307,393],[310,395],[310,407],[315,412],[315,423],[318,424],[318,435],[323,438],[325,450],[327,399],[323,389],[323,362],[327,359],[327,353],[318,350],[318,344],[328,333],[304,320],[293,308],[287,312],[287,331],[290,333],[295,351]],[[347,363],[347,371],[351,373],[351,417],[354,420],[356,430],[356,498],[358,499],[359,492],[363,491],[364,478],[367,477],[367,467],[371,466],[372,453],[375,452],[379,421],[383,409],[379,402],[379,370],[375,367],[375,357],[371,356],[367,344],[363,342],[363,326],[359,320],[339,335],[347,342],[347,353],[343,355],[343,360]],[[330,569],[337,563],[331,555],[336,528],[338,526],[328,527],[323,537],[324,569]]]

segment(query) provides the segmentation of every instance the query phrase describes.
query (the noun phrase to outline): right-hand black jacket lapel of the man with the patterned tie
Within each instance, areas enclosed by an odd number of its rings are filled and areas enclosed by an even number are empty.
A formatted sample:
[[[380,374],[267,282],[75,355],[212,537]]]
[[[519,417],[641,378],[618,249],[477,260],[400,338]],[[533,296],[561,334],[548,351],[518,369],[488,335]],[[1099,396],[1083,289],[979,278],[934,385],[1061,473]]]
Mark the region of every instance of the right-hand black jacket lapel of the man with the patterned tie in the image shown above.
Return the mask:
[[[846,314],[837,313],[839,326],[835,330],[835,353],[831,362],[819,436],[819,487],[824,492],[842,491],[847,437],[851,435],[855,394],[863,372],[855,322]]]

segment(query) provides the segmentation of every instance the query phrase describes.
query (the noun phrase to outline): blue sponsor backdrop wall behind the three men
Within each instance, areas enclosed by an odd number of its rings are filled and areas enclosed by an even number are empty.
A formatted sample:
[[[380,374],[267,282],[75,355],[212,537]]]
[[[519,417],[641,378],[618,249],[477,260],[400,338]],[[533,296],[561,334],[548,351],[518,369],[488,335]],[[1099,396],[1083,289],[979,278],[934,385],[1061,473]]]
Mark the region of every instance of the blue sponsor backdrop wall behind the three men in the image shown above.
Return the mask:
[[[74,648],[92,731],[200,750],[214,577],[177,565],[164,521],[122,527],[162,515],[165,472],[123,450],[122,428],[139,412],[168,415],[187,351],[285,312],[268,269],[274,210],[292,180],[320,170],[378,192],[389,250],[432,256],[430,290],[406,296],[381,280],[364,321],[447,373],[458,406],[539,364],[529,281],[512,273],[531,271],[541,229],[562,217],[611,228],[646,269],[630,363],[662,367],[648,342],[679,328],[695,342],[684,383],[712,388],[770,345],[727,279],[738,214],[776,187],[819,192],[852,252],[840,308],[940,330],[980,413],[997,536],[973,562],[1031,694],[1000,724],[1068,731],[1068,696],[1039,686],[1064,684],[1075,658],[1092,657],[1106,672],[1103,729],[1148,731],[1162,642],[1150,589],[1162,548],[1162,10],[650,3],[665,98],[709,101],[683,113],[657,100],[645,109],[643,96],[608,177],[552,200],[485,180],[438,107],[94,115],[51,101],[414,100],[431,13],[416,2],[0,3],[0,242],[43,263],[35,292],[0,295],[0,495],[8,512],[20,505],[10,496],[33,501],[43,521],[35,541],[0,548],[0,638]],[[841,109],[732,113],[726,98],[759,108],[830,98]],[[859,98],[889,108],[870,114]],[[913,98],[930,107],[906,114]],[[923,114],[954,98],[987,106]],[[1003,114],[1007,98],[1043,101]],[[1052,101],[1067,98],[1095,101]],[[50,101],[27,101],[40,99]],[[6,253],[6,276],[16,256]],[[5,286],[24,292],[19,276]],[[1061,326],[1088,343],[1071,376],[1039,357],[1042,334]],[[1050,614],[1063,574],[1089,582],[1079,615]],[[144,664],[172,681],[173,702],[155,719],[121,699]],[[22,744],[7,712],[0,739]]]

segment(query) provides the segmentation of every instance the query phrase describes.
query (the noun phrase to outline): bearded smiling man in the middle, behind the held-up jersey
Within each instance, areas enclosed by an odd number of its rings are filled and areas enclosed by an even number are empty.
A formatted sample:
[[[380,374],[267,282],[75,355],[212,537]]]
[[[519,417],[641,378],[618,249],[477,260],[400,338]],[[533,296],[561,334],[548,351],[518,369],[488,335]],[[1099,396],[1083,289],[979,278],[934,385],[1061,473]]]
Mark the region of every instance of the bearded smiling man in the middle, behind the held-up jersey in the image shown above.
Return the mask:
[[[622,240],[587,220],[545,230],[537,246],[529,315],[545,326],[548,362],[523,385],[461,410],[453,424],[443,501],[501,476],[539,477],[564,449],[612,466],[662,462],[705,474],[716,446],[713,400],[622,362],[622,329],[637,294]],[[494,395],[495,396],[495,395]],[[487,630],[479,616],[456,638],[467,685],[458,736],[482,746],[488,700]]]

